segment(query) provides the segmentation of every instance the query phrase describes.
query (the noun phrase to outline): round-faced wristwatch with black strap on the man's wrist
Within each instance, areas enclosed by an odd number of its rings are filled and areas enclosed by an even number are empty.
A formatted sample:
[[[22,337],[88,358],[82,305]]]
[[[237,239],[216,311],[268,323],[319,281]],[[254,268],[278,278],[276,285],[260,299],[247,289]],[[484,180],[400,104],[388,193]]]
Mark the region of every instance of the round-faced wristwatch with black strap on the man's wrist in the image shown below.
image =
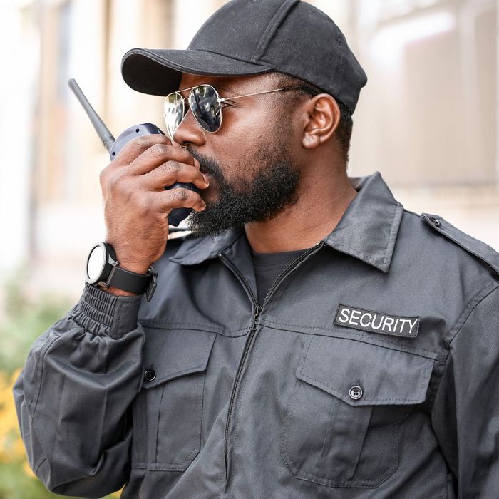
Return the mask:
[[[158,272],[149,267],[147,274],[121,269],[114,248],[108,242],[96,242],[88,253],[86,282],[93,286],[116,287],[130,293],[143,294],[148,302],[156,289]]]

